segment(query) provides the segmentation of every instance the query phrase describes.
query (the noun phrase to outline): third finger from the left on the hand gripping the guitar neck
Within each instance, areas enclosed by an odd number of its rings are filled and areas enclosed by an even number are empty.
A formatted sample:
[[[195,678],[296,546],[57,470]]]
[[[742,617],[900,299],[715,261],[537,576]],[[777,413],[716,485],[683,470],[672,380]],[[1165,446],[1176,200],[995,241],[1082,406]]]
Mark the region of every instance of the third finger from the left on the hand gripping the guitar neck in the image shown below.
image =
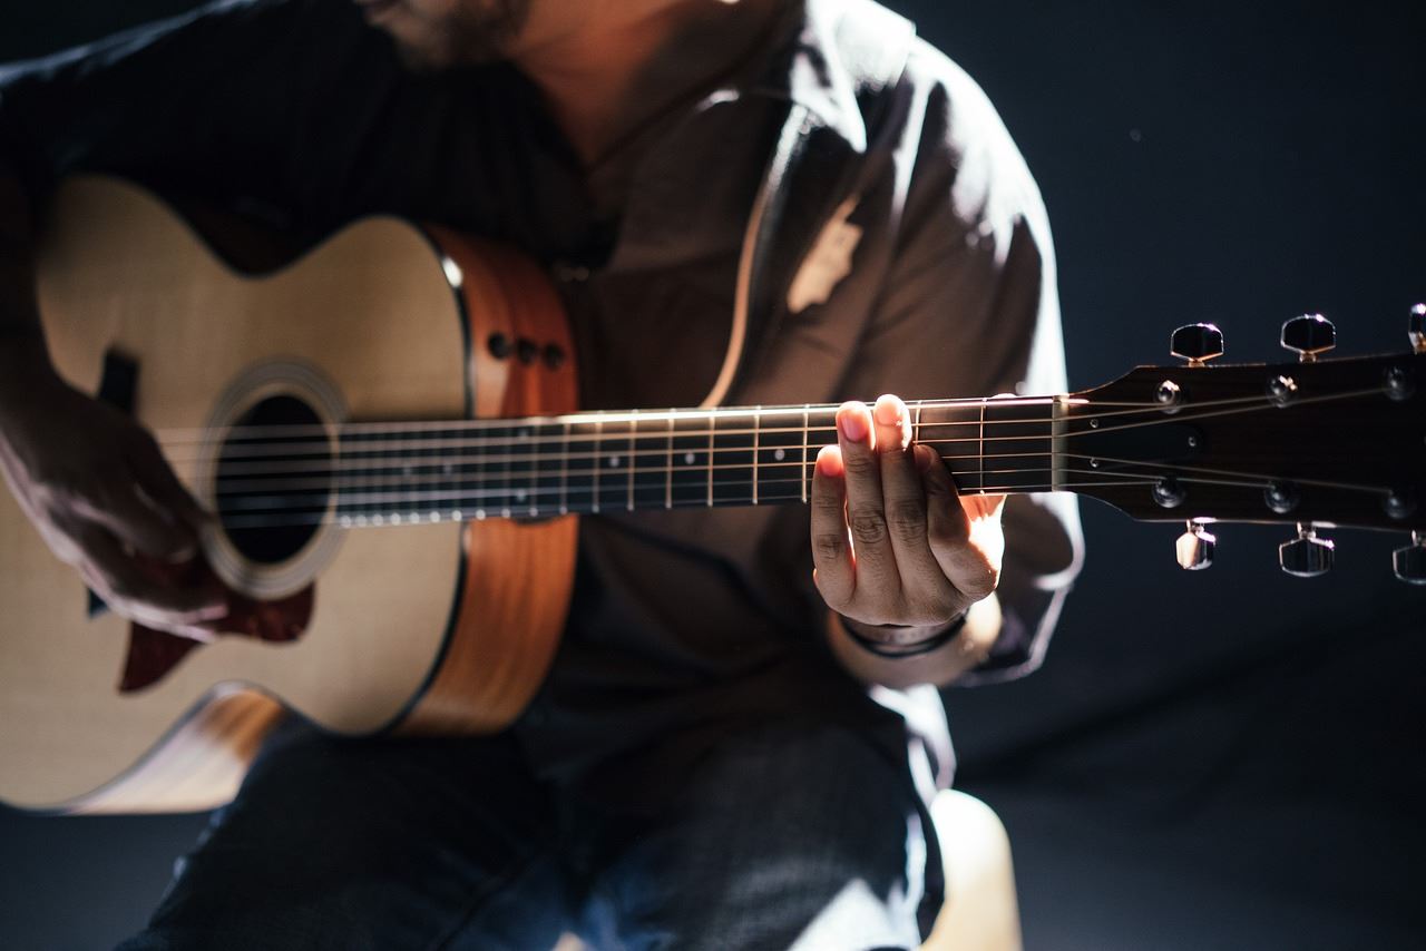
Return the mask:
[[[906,623],[933,624],[951,613],[953,587],[927,538],[925,488],[911,445],[911,418],[897,396],[881,396],[873,411],[881,463],[881,505],[907,607]]]

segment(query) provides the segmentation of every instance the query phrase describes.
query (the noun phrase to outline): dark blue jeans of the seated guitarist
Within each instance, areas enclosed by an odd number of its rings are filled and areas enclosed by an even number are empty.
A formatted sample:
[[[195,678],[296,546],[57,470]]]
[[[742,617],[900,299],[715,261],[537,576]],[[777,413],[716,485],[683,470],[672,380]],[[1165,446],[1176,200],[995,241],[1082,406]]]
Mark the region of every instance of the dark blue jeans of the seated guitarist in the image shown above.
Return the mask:
[[[545,951],[575,931],[597,948],[860,951],[914,948],[938,908],[906,757],[853,730],[770,724],[680,774],[637,757],[620,774],[659,806],[542,783],[511,736],[292,721],[120,947]]]

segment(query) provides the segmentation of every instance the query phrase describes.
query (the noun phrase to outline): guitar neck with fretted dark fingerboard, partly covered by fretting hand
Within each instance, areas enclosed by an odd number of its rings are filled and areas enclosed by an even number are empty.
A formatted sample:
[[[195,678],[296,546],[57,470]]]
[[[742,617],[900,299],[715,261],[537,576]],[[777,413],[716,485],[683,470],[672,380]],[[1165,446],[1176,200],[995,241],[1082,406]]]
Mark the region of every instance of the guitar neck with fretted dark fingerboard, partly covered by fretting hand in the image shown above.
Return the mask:
[[[1055,488],[1058,401],[910,402],[961,492]],[[807,502],[836,405],[582,412],[341,429],[348,526]]]

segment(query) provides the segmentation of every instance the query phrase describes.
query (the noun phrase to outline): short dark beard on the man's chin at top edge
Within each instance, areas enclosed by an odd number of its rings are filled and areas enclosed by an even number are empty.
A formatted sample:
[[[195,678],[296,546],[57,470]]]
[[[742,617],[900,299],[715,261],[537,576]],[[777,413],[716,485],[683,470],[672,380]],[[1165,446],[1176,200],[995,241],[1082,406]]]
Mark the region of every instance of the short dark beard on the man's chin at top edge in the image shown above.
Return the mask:
[[[509,58],[529,17],[530,0],[453,0],[428,10],[421,0],[402,3],[409,13],[386,29],[406,68],[418,73],[498,63]]]

